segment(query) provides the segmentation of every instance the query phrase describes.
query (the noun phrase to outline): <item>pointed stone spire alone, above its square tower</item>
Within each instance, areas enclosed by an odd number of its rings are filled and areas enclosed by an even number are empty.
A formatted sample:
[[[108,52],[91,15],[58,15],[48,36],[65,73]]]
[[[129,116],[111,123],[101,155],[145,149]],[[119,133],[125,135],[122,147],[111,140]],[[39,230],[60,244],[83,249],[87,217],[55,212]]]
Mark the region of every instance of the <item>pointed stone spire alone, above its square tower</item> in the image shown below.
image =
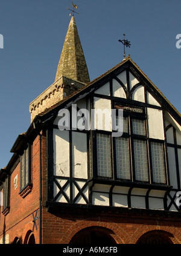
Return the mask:
[[[74,16],[69,23],[55,82],[62,76],[83,84],[90,82]]]

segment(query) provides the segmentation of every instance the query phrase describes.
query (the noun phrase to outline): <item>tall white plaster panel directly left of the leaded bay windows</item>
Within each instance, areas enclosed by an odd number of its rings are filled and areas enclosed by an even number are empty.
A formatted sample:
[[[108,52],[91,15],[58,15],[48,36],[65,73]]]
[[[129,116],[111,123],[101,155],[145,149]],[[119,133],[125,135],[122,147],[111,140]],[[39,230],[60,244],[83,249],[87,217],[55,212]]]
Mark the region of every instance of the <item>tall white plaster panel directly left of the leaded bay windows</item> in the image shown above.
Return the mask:
[[[72,176],[87,179],[87,134],[72,132]]]

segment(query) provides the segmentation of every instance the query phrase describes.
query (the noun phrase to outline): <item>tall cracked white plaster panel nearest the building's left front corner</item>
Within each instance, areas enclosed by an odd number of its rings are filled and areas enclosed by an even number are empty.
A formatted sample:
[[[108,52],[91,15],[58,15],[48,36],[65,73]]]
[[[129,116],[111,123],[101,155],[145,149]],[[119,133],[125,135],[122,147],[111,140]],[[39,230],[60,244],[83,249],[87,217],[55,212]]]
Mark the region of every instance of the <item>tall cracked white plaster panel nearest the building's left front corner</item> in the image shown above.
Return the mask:
[[[54,175],[69,177],[69,131],[53,130]]]

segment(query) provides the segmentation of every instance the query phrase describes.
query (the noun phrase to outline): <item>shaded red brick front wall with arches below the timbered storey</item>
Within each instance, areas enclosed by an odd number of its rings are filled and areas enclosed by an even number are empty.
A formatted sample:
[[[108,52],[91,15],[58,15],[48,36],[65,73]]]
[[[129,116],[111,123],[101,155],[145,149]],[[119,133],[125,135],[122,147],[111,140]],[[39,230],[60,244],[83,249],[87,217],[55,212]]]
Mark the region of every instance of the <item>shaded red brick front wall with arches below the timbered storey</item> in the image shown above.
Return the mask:
[[[142,218],[141,214],[137,216],[105,213],[91,215],[91,212],[85,214],[85,210],[76,214],[75,211],[65,208],[62,214],[51,214],[46,212],[46,209],[43,211],[43,243],[45,244],[68,244],[77,232],[90,227],[104,228],[118,244],[135,244],[149,231],[163,231],[173,243],[181,243],[179,220],[160,219],[150,215]]]

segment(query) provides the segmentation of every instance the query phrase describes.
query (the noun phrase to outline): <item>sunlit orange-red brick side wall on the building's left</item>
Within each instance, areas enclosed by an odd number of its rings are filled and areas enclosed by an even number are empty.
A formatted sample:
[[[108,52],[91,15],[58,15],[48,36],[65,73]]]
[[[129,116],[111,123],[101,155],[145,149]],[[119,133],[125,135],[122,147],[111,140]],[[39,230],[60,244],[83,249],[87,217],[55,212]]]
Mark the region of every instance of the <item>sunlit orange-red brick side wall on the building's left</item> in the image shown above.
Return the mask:
[[[10,179],[10,212],[4,216],[2,206],[0,211],[0,239],[5,232],[9,234],[9,242],[12,243],[15,237],[21,238],[24,243],[28,230],[33,229],[33,212],[39,209],[39,137],[33,143],[32,180],[33,188],[30,194],[24,199],[19,195],[20,188],[20,163],[16,166]],[[14,177],[17,177],[17,189],[14,189]],[[39,229],[39,226],[38,226]],[[34,237],[39,243],[39,230],[34,229]]]

